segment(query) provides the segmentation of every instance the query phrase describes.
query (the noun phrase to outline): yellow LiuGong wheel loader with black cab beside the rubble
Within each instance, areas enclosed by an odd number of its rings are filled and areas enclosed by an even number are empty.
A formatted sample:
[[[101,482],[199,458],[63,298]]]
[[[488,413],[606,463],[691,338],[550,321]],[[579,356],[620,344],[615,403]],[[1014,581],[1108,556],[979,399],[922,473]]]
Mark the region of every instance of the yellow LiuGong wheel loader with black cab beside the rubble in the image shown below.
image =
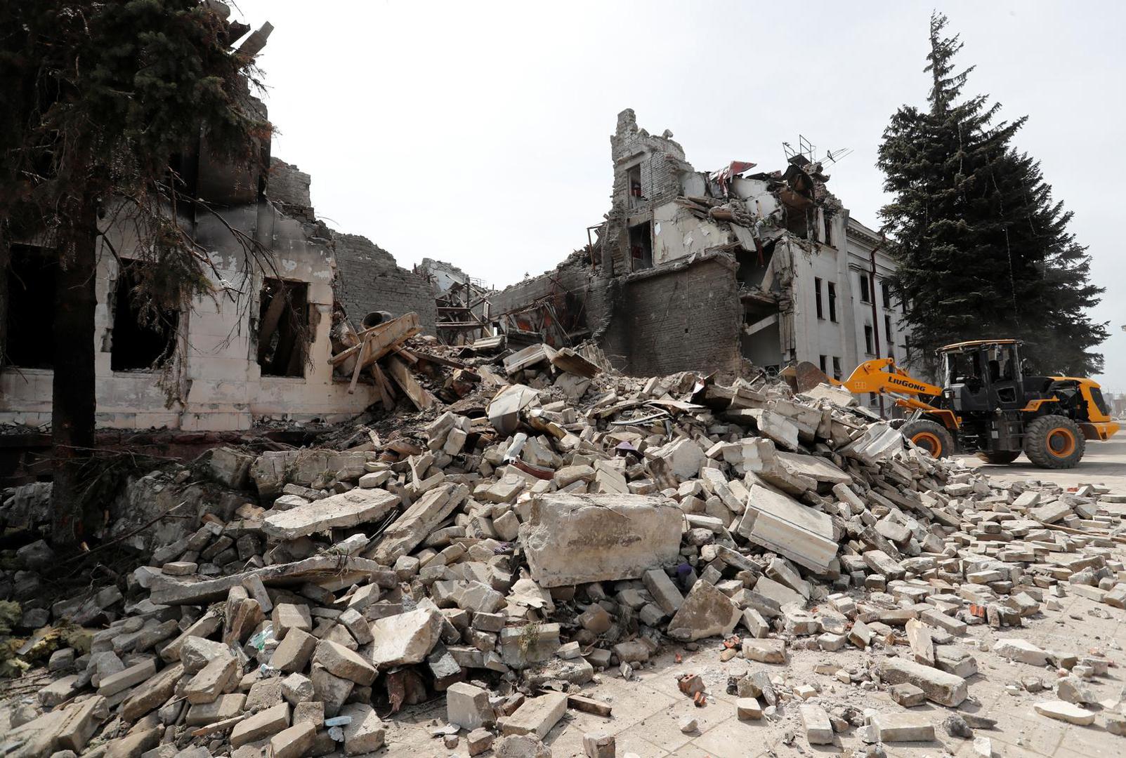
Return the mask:
[[[1011,463],[1024,452],[1040,468],[1073,468],[1088,440],[1109,440],[1118,424],[1091,379],[1024,376],[1020,344],[974,340],[939,349],[942,387],[914,379],[891,358],[829,381],[856,394],[888,395],[912,409],[900,430],[936,458],[974,453],[989,463]],[[798,367],[796,375],[807,382],[810,369]]]

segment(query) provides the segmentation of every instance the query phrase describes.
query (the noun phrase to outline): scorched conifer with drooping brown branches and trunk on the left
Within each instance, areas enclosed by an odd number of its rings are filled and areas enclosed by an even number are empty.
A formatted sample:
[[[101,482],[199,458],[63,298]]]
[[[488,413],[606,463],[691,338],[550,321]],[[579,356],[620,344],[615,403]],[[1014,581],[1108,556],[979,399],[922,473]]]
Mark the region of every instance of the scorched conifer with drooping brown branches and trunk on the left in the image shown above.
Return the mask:
[[[250,97],[251,56],[231,48],[227,9],[200,0],[6,0],[0,3],[0,278],[10,246],[35,241],[55,276],[52,536],[84,539],[86,463],[95,445],[95,282],[107,228],[135,229],[148,309],[212,291],[211,262],[181,223],[175,156],[206,141],[257,165],[270,127]],[[0,316],[7,310],[0,287]],[[0,358],[5,343],[0,334]]]

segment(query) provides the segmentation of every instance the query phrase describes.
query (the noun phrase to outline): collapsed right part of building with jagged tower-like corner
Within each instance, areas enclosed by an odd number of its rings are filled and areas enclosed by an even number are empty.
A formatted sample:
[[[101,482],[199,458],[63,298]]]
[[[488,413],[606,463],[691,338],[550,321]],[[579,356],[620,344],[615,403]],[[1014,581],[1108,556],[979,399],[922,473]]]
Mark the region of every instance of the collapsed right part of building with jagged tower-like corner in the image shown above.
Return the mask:
[[[903,305],[881,237],[825,187],[820,163],[783,171],[733,161],[701,172],[665,132],[618,115],[613,206],[597,240],[553,271],[491,297],[513,334],[595,339],[634,375],[768,370],[810,361],[847,376],[906,357]],[[553,342],[554,341],[554,342]]]

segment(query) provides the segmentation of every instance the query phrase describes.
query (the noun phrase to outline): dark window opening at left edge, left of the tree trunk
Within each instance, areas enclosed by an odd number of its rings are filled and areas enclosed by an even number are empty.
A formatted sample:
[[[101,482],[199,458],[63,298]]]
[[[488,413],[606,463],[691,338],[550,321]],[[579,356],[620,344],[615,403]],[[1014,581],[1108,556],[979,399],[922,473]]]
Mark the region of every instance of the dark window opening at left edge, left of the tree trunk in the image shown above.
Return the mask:
[[[55,360],[55,283],[53,251],[12,245],[7,271],[8,344],[5,364],[21,369],[50,369]]]

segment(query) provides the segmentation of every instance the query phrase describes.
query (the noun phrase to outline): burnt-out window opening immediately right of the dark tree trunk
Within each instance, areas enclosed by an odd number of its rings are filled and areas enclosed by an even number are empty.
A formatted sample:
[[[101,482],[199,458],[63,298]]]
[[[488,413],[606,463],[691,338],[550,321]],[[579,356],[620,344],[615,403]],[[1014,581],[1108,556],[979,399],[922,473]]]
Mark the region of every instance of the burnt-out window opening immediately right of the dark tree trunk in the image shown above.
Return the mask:
[[[113,291],[114,332],[109,368],[152,371],[176,353],[180,314],[152,303],[149,283],[155,263],[124,261]]]

